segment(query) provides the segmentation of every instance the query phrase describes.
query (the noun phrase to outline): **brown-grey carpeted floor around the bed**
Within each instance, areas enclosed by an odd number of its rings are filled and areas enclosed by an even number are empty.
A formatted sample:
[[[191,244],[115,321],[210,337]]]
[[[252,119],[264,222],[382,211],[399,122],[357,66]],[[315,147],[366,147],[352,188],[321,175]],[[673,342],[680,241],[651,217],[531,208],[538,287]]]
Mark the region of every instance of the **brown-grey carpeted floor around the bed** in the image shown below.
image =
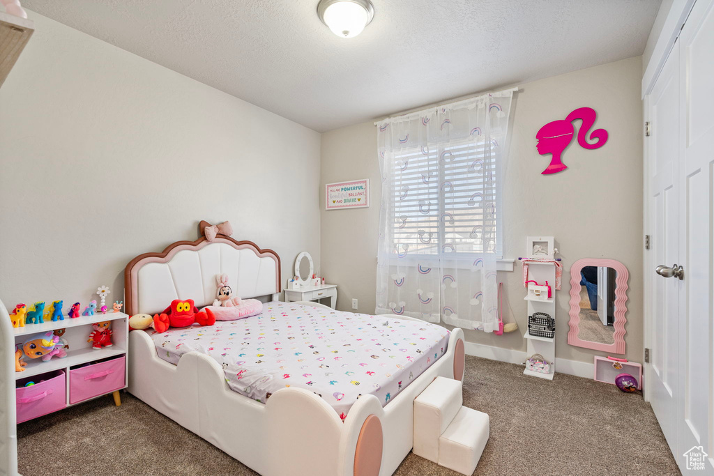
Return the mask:
[[[256,475],[131,395],[122,400],[18,425],[21,474]],[[463,400],[491,415],[475,475],[680,474],[650,405],[614,385],[561,373],[550,382],[467,356]],[[458,473],[410,453],[395,474]]]

